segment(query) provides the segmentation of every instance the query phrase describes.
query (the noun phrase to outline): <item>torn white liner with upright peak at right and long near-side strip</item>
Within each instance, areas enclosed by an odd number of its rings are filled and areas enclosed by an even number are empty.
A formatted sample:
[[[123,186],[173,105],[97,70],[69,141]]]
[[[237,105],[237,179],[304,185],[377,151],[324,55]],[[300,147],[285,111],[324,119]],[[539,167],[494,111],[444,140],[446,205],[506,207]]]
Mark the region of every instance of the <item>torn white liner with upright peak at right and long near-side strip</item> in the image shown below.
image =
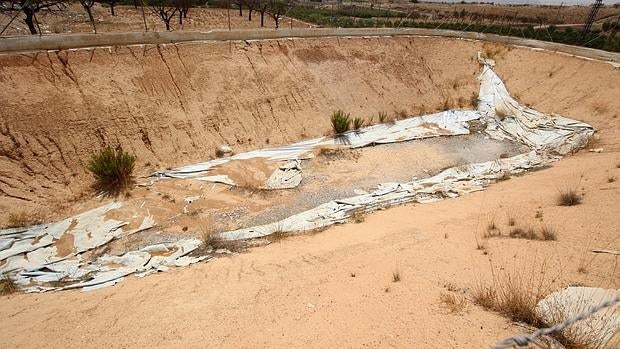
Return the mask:
[[[279,222],[239,229],[221,234],[227,240],[262,237],[274,232],[300,232],[343,222],[355,211],[372,211],[404,202],[431,202],[445,197],[482,190],[492,181],[514,173],[540,167],[558,160],[563,155],[582,147],[593,135],[592,126],[550,116],[519,104],[508,94],[502,80],[491,68],[491,62],[480,59],[478,112],[471,118],[461,113],[458,120],[482,119],[487,122],[487,133],[493,138],[517,141],[532,151],[507,159],[455,167],[436,176],[408,183],[385,183],[377,190],[343,200],[334,200],[314,209],[293,215]],[[501,110],[502,118],[497,111]],[[414,118],[419,119],[421,118]],[[414,120],[412,119],[412,120]],[[428,119],[426,119],[428,123]],[[422,125],[421,121],[415,123]],[[452,124],[455,126],[455,124]],[[457,131],[458,132],[458,131]]]

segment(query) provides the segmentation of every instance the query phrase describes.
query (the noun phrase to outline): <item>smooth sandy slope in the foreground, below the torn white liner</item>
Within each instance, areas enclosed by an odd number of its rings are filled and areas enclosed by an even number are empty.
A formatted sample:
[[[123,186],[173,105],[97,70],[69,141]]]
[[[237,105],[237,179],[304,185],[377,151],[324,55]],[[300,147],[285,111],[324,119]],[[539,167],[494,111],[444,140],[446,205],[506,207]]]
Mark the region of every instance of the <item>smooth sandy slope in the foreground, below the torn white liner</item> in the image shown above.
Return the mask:
[[[469,294],[496,268],[546,261],[554,287],[620,287],[618,152],[582,153],[489,190],[429,205],[408,205],[246,254],[129,278],[91,293],[66,291],[0,299],[0,343],[15,347],[406,347],[473,348],[522,331],[468,302],[462,315],[440,306],[442,292]],[[584,203],[558,207],[564,183]],[[491,217],[506,229],[533,224],[537,210],[558,241],[496,238],[476,250]],[[616,257],[617,258],[617,257]],[[578,273],[580,265],[585,273]],[[402,281],[393,283],[398,270]],[[352,277],[354,273],[355,277]],[[388,290],[386,292],[386,289]]]

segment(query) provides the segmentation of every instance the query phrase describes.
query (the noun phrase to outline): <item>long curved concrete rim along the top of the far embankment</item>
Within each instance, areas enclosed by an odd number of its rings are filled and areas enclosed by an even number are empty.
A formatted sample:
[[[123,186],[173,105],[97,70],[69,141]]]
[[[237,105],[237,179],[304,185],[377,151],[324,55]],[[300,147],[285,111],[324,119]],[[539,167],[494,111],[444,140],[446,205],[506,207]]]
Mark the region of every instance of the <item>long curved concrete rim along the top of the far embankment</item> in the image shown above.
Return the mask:
[[[360,36],[437,36],[482,40],[508,45],[526,46],[549,51],[620,63],[620,53],[587,47],[518,37],[422,28],[297,28],[279,30],[212,30],[208,32],[132,32],[100,34],[67,34],[50,36],[19,36],[0,38],[0,53],[12,54],[33,51],[67,50],[89,47],[128,46],[140,44],[170,44],[199,41],[268,40],[286,38],[360,37]]]

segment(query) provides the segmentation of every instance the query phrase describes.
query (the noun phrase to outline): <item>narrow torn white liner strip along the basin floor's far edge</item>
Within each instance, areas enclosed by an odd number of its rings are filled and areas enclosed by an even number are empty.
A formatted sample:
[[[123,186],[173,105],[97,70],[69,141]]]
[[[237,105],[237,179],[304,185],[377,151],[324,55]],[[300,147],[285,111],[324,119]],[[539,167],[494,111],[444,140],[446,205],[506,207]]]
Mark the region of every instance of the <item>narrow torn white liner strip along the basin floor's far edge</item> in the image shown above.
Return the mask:
[[[204,177],[204,175],[212,168],[233,160],[253,158],[280,161],[299,160],[311,157],[312,150],[320,146],[344,145],[350,148],[360,148],[371,144],[404,142],[412,139],[439,136],[466,135],[469,134],[467,122],[479,117],[479,114],[475,111],[448,110],[436,114],[398,120],[392,124],[369,126],[360,130],[346,132],[338,137],[321,137],[278,148],[240,153],[227,158],[218,158],[172,170],[156,172],[151,176],[160,178],[201,177],[199,179],[215,182],[216,180],[212,180],[214,176]],[[218,182],[225,183],[224,181]]]

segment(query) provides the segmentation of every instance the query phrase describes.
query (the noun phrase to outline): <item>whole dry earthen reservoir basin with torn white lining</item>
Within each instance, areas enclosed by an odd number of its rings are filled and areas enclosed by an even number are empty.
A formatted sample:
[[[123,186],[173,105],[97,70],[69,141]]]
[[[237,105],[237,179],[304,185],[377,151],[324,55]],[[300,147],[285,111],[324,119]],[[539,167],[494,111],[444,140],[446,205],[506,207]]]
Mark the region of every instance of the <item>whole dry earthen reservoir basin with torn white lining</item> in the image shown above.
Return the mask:
[[[423,36],[5,52],[0,347],[481,348],[604,301],[539,340],[617,347],[612,57]],[[113,161],[133,176],[96,186]]]

